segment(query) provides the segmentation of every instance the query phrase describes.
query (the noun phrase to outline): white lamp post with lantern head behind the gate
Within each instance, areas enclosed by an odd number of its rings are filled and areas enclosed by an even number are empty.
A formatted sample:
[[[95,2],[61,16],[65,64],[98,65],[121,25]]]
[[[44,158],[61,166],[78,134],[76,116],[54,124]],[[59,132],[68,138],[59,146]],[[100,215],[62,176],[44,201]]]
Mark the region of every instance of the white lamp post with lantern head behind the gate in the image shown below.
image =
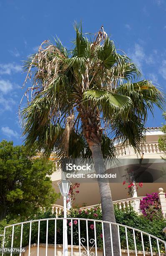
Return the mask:
[[[63,196],[64,219],[63,219],[63,255],[68,256],[68,233],[67,233],[67,212],[66,212],[66,197],[68,195],[71,182],[69,180],[60,180],[57,182],[60,194]]]

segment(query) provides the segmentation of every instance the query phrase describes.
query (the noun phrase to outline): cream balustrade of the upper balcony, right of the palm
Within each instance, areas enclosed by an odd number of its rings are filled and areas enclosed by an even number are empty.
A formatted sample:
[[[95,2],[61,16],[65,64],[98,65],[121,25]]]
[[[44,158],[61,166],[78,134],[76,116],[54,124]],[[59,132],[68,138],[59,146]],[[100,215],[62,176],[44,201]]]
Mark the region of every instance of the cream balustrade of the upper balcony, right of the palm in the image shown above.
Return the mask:
[[[131,146],[116,146],[116,152],[117,157],[121,156],[129,156],[136,154],[134,149]],[[143,146],[141,146],[141,153],[144,154],[160,154],[162,151],[158,148],[158,143],[149,142],[144,143]]]

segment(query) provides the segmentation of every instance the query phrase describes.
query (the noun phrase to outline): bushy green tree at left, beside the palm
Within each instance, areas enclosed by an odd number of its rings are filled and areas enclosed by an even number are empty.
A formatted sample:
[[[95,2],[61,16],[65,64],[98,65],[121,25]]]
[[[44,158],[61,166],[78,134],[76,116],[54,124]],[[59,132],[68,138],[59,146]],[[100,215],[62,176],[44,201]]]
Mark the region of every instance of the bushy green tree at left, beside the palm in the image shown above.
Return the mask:
[[[53,162],[35,159],[24,146],[13,141],[0,143],[0,219],[10,215],[28,217],[40,207],[50,207],[58,195],[54,192],[50,175]]]

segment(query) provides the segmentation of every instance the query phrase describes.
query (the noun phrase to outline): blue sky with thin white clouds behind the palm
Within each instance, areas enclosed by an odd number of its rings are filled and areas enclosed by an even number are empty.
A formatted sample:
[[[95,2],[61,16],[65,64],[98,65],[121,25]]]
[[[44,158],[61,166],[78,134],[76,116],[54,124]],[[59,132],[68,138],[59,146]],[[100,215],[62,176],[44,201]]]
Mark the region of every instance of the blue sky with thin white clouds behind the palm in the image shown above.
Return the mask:
[[[116,47],[138,64],[143,77],[166,92],[166,0],[1,0],[0,141],[23,142],[18,120],[25,79],[22,61],[56,35],[70,47],[74,20],[82,20],[84,32],[95,33],[103,25]],[[155,109],[147,126],[162,122],[161,111]]]

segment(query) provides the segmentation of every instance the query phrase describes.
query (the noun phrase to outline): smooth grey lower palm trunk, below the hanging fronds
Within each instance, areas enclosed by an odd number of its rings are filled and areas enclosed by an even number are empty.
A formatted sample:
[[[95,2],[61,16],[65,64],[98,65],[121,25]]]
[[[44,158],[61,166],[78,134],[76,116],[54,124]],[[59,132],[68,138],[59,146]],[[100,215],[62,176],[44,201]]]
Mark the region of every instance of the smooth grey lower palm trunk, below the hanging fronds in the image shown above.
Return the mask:
[[[92,151],[93,163],[94,163],[96,174],[106,173],[106,166],[104,164],[103,154],[101,152],[101,146],[94,144],[93,146],[90,146],[90,148]],[[98,185],[100,189],[103,220],[116,223],[114,208],[113,208],[113,201],[111,196],[111,189],[109,186],[108,179],[98,179]],[[112,225],[111,229],[112,229],[112,238],[113,238],[113,253],[116,256],[120,256],[117,226]],[[106,256],[112,256],[110,226],[109,224],[106,224],[106,223],[104,224],[104,237],[105,237]]]

